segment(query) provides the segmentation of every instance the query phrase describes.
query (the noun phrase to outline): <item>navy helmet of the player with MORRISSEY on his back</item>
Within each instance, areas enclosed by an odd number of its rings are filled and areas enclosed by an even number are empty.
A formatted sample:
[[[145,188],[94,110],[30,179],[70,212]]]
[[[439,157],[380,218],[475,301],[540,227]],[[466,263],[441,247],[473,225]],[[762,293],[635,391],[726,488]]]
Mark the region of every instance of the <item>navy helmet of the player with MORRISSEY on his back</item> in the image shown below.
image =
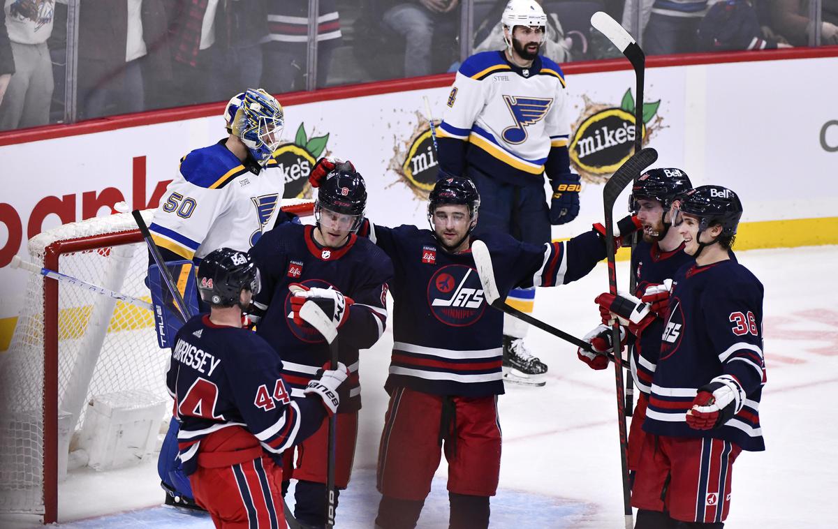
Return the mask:
[[[209,305],[239,305],[242,290],[256,295],[260,289],[259,269],[246,252],[215,249],[198,265],[198,290]]]

